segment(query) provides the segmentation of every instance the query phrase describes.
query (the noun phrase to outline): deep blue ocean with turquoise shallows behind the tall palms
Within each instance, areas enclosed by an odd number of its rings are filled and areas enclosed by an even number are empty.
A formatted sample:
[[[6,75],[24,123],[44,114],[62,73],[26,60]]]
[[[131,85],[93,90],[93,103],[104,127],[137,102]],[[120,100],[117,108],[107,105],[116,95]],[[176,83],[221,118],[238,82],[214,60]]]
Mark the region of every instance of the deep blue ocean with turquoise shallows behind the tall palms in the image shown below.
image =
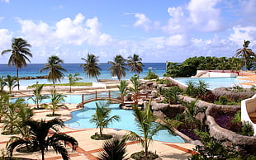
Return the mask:
[[[79,67],[80,64],[62,64],[62,67],[67,70],[64,72],[65,77],[69,75],[69,73],[79,73],[79,77],[83,78],[80,82],[96,82],[96,78],[87,77],[86,73],[83,73],[83,67]],[[151,69],[154,73],[156,73],[159,78],[162,78],[165,73],[165,63],[144,63],[145,67],[143,68],[143,73],[140,73],[140,78],[145,78],[149,69]],[[44,71],[39,73],[40,68],[45,67],[45,64],[27,64],[26,68],[19,69],[19,78],[22,77],[36,77],[47,75],[48,71]],[[102,68],[101,75],[98,77],[99,79],[117,79],[112,78],[110,71],[107,69],[111,67],[110,64],[102,63],[99,65]],[[14,66],[9,67],[7,64],[0,64],[0,76],[6,76],[7,74],[11,76],[16,76],[16,68]],[[134,76],[135,73],[130,73],[130,71],[126,71],[126,77],[121,78],[122,80],[130,79]],[[46,79],[32,79],[32,80],[21,80],[21,86],[30,86],[35,84],[38,81],[40,84],[51,83]],[[68,78],[63,78],[60,83],[69,82]],[[59,83],[59,82],[57,82]]]

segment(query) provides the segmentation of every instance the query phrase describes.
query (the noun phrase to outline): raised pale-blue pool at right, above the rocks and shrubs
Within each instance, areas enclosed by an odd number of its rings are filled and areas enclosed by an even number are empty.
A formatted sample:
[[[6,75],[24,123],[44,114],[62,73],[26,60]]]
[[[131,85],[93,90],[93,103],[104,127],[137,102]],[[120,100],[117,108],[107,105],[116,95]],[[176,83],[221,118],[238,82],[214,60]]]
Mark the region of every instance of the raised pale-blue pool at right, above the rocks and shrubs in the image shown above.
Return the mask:
[[[241,78],[241,77],[239,77]],[[217,87],[233,87],[235,84],[239,82],[245,82],[245,80],[240,80],[237,78],[175,78],[179,82],[183,82],[187,84],[188,81],[198,82],[202,80],[209,84],[209,89],[213,90]]]

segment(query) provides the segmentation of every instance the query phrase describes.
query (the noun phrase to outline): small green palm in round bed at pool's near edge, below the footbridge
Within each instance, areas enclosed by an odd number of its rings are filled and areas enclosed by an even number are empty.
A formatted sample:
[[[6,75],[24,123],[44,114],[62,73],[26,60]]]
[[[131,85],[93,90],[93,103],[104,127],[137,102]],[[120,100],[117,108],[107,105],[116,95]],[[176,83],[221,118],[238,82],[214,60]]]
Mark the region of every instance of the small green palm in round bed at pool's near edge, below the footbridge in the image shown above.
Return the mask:
[[[109,101],[104,104],[98,104],[96,102],[96,111],[94,115],[92,115],[92,119],[90,120],[91,123],[94,123],[97,128],[100,129],[100,136],[103,138],[103,129],[107,128],[107,125],[112,123],[114,120],[119,121],[120,117],[118,115],[110,115],[111,109],[107,108],[109,106]]]

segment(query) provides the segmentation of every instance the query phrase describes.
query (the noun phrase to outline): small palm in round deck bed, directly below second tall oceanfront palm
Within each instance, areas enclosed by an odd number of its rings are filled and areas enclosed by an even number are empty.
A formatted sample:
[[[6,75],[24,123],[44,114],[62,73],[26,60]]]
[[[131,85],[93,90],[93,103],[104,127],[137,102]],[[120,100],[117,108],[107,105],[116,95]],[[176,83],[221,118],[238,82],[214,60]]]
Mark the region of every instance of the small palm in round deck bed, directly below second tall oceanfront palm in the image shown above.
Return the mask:
[[[63,104],[63,102],[65,101],[64,100],[64,97],[66,97],[65,95],[63,94],[58,94],[56,93],[55,90],[53,90],[50,94],[50,104],[47,105],[47,107],[49,107],[51,109],[52,112],[52,115],[50,116],[56,116],[56,115],[59,115],[59,114],[55,114],[55,111],[57,111],[59,109],[59,107],[62,107],[64,106],[65,108],[69,108],[68,106],[65,106]]]

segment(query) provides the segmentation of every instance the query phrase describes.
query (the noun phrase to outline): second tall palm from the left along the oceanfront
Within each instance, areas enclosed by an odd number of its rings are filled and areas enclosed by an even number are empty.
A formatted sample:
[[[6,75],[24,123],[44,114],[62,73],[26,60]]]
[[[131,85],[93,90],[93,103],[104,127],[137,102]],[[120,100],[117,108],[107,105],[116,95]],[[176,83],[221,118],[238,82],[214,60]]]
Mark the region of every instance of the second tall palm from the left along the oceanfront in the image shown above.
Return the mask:
[[[64,78],[64,73],[62,71],[66,72],[67,70],[63,68],[60,64],[64,64],[64,61],[62,59],[59,59],[58,56],[52,55],[48,58],[48,63],[45,64],[44,68],[40,68],[40,73],[44,70],[48,70],[48,80],[53,82],[54,88],[55,88],[55,82],[59,80],[60,78]]]

